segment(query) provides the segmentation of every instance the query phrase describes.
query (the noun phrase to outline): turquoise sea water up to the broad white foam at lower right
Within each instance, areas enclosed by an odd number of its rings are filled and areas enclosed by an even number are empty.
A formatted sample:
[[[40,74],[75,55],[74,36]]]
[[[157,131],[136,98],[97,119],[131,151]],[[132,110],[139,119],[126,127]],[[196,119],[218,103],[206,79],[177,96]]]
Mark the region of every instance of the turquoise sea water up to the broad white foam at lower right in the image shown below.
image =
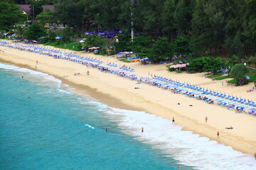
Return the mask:
[[[159,150],[125,135],[118,120],[105,114],[106,107],[66,92],[58,80],[46,77],[0,69],[0,169],[178,166]]]

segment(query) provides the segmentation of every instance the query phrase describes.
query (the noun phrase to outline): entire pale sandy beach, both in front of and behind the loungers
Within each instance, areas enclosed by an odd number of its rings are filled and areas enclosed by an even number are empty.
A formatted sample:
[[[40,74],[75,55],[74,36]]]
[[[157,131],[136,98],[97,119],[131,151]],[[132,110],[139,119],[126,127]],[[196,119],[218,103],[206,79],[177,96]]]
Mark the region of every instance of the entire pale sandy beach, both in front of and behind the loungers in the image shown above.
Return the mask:
[[[254,154],[256,152],[256,116],[247,113],[235,113],[234,110],[228,110],[215,104],[210,105],[196,98],[188,98],[183,94],[172,94],[171,91],[149,86],[149,84],[138,85],[136,84],[137,81],[125,79],[116,74],[100,72],[98,69],[75,62],[8,47],[0,46],[0,50],[1,63],[36,69],[38,72],[53,75],[82,96],[90,97],[114,108],[145,111],[169,120],[174,117],[176,124],[181,125],[183,130],[190,130],[203,137],[208,137],[210,140],[233,147],[242,153]],[[207,79],[206,73],[187,74],[183,72],[176,74],[168,72],[164,64],[124,63],[119,62],[116,57],[93,55],[87,52],[78,52],[78,55],[96,57],[102,60],[102,64],[105,65],[108,62],[114,62],[121,66],[126,64],[134,69],[134,74],[143,77],[151,77],[151,74],[155,74],[256,101],[256,91],[247,93],[247,89],[252,89],[254,84],[238,87],[228,86],[225,81]],[[90,75],[87,75],[87,71],[90,72]],[[75,73],[80,73],[80,75],[75,76]],[[139,89],[134,89],[136,86],[139,86]],[[206,116],[208,117],[207,123],[205,122]],[[233,130],[225,129],[230,126],[233,127]],[[138,127],[138,130],[140,128]],[[217,132],[220,132],[219,137],[216,135]]]

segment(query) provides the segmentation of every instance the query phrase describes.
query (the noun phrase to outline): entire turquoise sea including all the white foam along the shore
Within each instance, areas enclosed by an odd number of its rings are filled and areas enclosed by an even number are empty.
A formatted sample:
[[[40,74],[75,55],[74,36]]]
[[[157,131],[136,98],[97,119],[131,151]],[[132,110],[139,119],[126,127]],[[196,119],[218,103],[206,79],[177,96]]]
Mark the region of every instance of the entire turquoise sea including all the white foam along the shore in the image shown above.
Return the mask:
[[[251,155],[169,120],[110,108],[48,74],[1,63],[0,153],[0,169],[15,170],[256,169]]]

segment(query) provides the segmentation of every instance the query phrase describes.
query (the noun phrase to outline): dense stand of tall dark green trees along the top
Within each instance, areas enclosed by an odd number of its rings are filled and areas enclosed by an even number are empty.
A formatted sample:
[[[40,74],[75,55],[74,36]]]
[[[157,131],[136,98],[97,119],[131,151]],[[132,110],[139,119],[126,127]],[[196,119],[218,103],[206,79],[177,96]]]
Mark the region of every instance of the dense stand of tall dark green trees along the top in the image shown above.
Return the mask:
[[[136,35],[188,39],[193,55],[239,57],[256,53],[256,0],[53,0],[55,21],[99,30],[127,29]],[[16,0],[16,4],[32,4]]]

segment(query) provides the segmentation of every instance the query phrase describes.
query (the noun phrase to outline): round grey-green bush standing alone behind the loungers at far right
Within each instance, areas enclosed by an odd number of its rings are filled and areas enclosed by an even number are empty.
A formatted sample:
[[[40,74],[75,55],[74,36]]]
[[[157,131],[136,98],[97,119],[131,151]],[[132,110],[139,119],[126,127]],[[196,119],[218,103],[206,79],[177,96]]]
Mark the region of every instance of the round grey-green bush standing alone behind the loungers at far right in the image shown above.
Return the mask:
[[[231,69],[230,77],[235,79],[238,86],[243,85],[245,84],[245,74],[247,74],[247,72],[249,72],[249,70],[244,64],[235,64],[235,66]]]

